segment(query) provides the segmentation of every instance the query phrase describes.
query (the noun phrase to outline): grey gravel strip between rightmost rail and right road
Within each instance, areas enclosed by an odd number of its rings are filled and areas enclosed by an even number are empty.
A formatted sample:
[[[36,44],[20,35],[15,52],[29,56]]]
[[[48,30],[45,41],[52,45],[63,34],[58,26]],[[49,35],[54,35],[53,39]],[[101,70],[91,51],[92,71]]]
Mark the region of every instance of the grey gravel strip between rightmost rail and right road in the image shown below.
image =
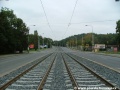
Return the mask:
[[[111,70],[107,67],[101,66],[97,63],[94,63],[92,61],[89,61],[87,59],[81,58],[79,56],[70,54],[70,56],[77,59],[80,63],[88,66],[91,70],[98,73],[100,76],[104,77],[106,80],[109,80],[112,84],[114,84],[116,87],[120,88],[120,73]]]

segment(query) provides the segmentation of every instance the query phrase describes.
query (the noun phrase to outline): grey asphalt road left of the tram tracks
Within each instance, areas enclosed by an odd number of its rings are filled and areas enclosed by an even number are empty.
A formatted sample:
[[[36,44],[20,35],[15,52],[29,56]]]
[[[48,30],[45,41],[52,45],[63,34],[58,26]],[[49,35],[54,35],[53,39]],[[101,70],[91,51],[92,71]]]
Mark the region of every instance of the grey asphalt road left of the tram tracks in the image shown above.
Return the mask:
[[[52,53],[56,50],[55,47],[52,49],[46,49],[40,52],[30,52],[24,54],[11,54],[0,56],[0,77],[10,73],[13,70],[20,68],[42,56]]]

